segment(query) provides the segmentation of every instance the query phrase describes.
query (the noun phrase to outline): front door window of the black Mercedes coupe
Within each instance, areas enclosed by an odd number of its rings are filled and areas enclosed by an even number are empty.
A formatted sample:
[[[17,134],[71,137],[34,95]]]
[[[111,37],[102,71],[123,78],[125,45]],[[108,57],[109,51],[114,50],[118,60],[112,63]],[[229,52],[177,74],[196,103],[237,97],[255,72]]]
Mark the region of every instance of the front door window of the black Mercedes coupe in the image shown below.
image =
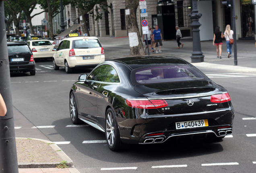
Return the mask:
[[[110,65],[107,64],[99,66],[98,68],[93,70],[93,72],[91,72],[91,74],[87,77],[87,80],[96,80],[99,82],[103,82],[109,68]]]

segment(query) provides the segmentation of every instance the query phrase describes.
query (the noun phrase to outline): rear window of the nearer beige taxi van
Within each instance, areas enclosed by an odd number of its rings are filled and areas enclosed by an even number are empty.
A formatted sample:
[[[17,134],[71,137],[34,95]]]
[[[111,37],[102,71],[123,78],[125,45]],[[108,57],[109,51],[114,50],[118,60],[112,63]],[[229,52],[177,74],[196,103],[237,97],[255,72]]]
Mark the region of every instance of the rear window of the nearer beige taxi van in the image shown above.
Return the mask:
[[[73,40],[72,48],[98,48],[101,47],[98,39]]]

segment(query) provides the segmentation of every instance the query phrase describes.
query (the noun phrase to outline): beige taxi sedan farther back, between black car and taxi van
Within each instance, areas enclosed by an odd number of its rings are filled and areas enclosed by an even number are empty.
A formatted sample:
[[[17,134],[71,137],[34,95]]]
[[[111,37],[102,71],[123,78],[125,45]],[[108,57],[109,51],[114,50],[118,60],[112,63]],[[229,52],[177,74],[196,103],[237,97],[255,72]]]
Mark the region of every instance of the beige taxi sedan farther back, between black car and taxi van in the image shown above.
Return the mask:
[[[32,37],[31,40],[27,42],[29,48],[33,52],[35,58],[52,58],[56,52],[54,45],[46,39],[38,39],[37,37]]]

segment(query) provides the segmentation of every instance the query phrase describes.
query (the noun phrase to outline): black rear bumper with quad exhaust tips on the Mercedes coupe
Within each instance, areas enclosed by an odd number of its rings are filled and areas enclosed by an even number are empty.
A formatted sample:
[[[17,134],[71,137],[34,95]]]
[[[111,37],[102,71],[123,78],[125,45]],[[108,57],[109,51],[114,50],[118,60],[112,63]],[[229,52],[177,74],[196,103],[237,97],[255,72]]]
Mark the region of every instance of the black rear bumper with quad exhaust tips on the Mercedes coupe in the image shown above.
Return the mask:
[[[157,117],[157,116],[156,116]],[[184,135],[214,135],[225,137],[232,134],[234,111],[223,109],[216,113],[198,113],[197,115],[180,115],[149,119],[117,118],[120,138],[124,143],[147,144],[163,143],[167,139]],[[207,119],[208,127],[197,127],[176,130],[175,122]]]

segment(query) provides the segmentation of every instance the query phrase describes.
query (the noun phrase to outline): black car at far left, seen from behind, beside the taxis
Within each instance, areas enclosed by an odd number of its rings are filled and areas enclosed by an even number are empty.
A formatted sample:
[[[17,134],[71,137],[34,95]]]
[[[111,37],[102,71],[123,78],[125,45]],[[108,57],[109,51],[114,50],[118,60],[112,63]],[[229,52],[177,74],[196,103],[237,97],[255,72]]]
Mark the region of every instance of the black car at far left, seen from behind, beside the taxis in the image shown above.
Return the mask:
[[[7,42],[10,72],[30,72],[35,75],[33,53],[26,42]]]

